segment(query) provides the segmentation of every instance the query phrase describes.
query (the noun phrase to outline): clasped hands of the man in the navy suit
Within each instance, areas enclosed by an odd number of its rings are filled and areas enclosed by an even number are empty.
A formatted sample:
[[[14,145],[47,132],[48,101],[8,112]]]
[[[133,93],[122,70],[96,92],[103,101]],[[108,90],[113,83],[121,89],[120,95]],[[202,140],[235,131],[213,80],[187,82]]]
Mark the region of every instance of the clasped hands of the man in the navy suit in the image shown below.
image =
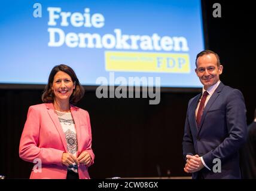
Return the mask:
[[[187,163],[185,164],[184,171],[187,173],[200,171],[203,167],[205,167],[201,161],[199,155],[187,155]]]

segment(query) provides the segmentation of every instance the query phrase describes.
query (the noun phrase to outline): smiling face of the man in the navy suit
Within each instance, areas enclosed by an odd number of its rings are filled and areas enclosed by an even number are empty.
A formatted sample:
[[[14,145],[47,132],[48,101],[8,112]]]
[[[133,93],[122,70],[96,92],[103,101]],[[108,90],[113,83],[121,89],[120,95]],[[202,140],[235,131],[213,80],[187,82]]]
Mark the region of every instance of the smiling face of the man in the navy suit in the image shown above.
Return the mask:
[[[217,58],[214,54],[205,54],[197,58],[196,75],[203,84],[205,90],[220,80],[220,75],[223,73],[223,66],[218,67]]]

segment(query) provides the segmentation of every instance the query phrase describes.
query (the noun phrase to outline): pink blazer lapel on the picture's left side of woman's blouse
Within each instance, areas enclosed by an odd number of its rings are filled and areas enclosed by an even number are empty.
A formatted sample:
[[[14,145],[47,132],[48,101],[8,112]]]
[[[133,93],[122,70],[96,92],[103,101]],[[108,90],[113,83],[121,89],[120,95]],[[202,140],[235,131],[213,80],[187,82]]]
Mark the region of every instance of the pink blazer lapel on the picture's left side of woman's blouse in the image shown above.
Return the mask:
[[[55,112],[53,103],[47,103],[46,106],[47,106],[47,109],[48,109],[48,114],[50,115],[51,120],[53,121],[55,127],[57,128],[57,131],[60,134],[60,138],[62,140],[63,146],[65,147],[65,152],[68,152],[67,145],[66,145],[65,134],[63,133],[63,130],[62,130],[62,127],[60,125],[57,113]]]

